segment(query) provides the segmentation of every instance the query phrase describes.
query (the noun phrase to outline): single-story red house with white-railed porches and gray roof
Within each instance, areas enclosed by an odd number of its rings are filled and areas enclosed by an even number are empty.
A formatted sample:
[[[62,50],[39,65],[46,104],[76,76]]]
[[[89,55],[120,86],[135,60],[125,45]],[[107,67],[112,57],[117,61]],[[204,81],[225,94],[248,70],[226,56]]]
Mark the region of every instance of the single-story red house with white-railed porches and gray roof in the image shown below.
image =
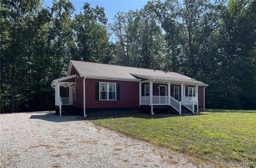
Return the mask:
[[[207,84],[178,73],[102,63],[70,61],[67,76],[51,83],[55,110],[63,106],[83,109],[141,108],[154,114],[167,108],[178,115],[204,109]],[[60,87],[67,90],[60,97]]]

